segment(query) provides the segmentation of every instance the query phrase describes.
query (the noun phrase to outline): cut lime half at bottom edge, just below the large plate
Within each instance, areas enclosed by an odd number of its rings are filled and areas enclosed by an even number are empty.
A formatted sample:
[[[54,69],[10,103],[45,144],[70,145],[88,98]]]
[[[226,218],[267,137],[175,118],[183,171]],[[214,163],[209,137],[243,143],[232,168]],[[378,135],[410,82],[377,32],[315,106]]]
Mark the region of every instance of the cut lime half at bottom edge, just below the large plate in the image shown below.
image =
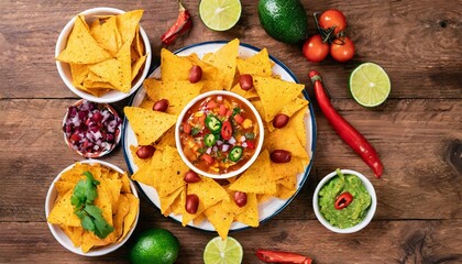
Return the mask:
[[[207,243],[204,251],[204,262],[206,264],[240,264],[242,255],[242,246],[238,240],[231,237],[222,240],[217,237]]]

